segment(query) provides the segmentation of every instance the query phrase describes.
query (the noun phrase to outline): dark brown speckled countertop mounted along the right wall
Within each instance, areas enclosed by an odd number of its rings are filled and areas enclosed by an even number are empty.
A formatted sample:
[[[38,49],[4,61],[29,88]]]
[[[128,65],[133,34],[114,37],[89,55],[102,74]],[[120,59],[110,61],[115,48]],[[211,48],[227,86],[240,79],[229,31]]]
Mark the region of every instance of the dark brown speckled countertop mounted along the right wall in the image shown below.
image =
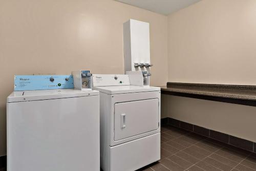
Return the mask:
[[[160,88],[162,94],[178,96],[186,94],[186,97],[191,95],[192,98],[204,96],[204,98],[201,99],[205,99],[207,96],[218,97],[216,100],[214,100],[214,98],[210,99],[214,101],[222,101],[219,100],[220,98],[238,99],[240,101],[250,100],[253,101],[256,106],[256,86],[167,82],[167,86],[161,86]]]

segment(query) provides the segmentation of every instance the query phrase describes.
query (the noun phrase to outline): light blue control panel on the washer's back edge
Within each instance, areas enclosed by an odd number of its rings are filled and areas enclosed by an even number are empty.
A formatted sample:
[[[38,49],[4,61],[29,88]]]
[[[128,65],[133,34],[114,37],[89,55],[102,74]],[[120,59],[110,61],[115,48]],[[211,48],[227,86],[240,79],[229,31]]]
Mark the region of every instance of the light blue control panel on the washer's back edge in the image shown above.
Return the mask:
[[[74,89],[73,75],[15,75],[14,91]]]

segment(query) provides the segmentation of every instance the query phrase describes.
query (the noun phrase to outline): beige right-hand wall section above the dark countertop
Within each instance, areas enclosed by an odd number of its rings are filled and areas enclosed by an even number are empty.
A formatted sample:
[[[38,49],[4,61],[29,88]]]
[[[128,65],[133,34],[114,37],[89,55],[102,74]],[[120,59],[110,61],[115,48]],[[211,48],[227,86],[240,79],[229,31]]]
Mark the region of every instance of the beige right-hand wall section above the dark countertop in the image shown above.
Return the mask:
[[[168,16],[168,80],[256,85],[256,1],[203,0]]]

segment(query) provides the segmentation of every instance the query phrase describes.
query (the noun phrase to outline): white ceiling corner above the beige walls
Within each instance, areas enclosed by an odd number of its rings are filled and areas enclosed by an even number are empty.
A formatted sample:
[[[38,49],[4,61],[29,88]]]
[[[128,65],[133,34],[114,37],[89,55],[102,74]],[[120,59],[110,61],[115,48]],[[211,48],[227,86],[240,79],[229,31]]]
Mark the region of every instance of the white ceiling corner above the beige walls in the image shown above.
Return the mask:
[[[163,15],[176,12],[201,0],[116,0],[135,7],[143,8]]]

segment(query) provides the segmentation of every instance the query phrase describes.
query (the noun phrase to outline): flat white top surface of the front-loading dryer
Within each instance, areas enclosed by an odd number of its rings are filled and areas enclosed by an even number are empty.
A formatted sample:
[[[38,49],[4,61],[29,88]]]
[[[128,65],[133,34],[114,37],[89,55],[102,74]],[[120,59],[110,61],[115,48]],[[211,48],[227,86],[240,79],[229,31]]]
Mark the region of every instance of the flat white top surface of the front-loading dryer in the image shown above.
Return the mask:
[[[106,94],[123,94],[123,93],[160,91],[160,88],[159,87],[141,87],[141,86],[102,86],[102,87],[93,87],[93,90],[98,90]]]

